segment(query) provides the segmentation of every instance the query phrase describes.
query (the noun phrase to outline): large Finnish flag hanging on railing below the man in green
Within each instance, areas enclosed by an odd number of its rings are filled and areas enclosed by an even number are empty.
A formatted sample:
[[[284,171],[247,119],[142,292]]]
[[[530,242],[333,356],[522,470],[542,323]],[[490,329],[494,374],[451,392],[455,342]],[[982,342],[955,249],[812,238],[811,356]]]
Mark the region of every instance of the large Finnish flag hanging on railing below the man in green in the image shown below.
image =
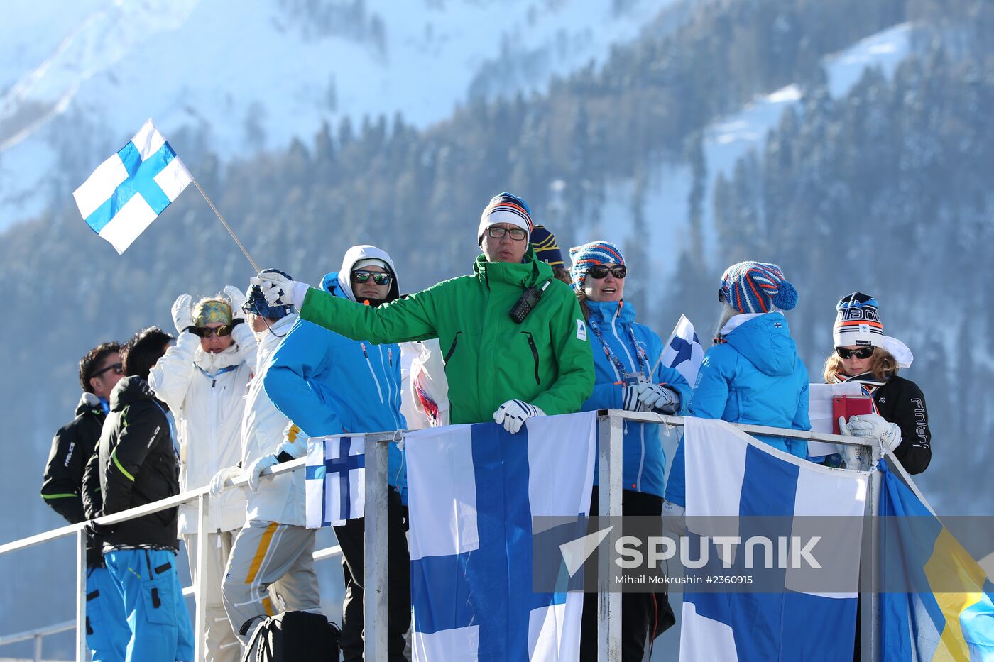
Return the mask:
[[[533,591],[532,518],[587,513],[595,414],[406,435],[414,662],[579,659],[583,594]]]

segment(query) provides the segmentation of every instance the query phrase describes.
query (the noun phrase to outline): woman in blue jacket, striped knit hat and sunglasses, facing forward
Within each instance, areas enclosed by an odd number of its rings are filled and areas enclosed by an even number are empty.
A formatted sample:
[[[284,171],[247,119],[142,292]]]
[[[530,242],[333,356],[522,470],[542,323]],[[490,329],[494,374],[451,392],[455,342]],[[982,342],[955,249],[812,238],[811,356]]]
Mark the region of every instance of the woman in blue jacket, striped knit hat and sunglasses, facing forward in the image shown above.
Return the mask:
[[[676,370],[659,363],[662,341],[652,329],[635,322],[634,306],[624,301],[627,267],[621,250],[607,242],[592,242],[571,248],[570,257],[571,277],[593,349],[593,394],[582,410],[684,414],[690,385]],[[621,512],[658,517],[666,465],[659,425],[625,421],[623,439]],[[593,476],[596,484],[596,471]],[[595,508],[596,491],[591,512]],[[653,627],[652,615],[657,610],[662,614],[666,607],[654,605],[653,597],[652,593],[624,593],[621,597],[622,660],[642,659],[646,635]],[[584,662],[596,658],[596,607],[596,595],[587,594],[580,640],[580,659]],[[655,625],[654,632],[658,623]]]

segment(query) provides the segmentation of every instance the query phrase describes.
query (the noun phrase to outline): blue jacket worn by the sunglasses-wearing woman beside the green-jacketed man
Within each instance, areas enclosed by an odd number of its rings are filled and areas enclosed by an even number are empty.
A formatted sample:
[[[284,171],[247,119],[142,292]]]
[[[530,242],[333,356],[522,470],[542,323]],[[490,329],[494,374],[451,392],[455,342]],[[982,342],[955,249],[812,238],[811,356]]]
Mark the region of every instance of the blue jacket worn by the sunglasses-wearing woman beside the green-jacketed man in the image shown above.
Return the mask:
[[[622,368],[632,373],[651,370],[663,351],[663,343],[652,329],[635,322],[635,307],[627,301],[619,303],[587,300],[586,306],[589,310],[589,322],[592,322],[591,328],[588,329],[587,341],[593,350],[594,383],[593,394],[580,409],[583,412],[620,410],[624,378],[614,362],[608,358],[592,326],[599,328],[604,341],[621,363]],[[632,334],[634,342],[638,343],[638,348],[632,342]],[[639,350],[645,353],[647,360],[643,360],[641,364],[637,356]],[[679,393],[680,410],[676,414],[686,413],[691,387],[679,372],[660,363],[651,381],[663,384]],[[659,438],[659,425],[626,420],[623,433],[622,488],[663,496],[666,457]],[[593,473],[593,483],[597,484],[596,470]]]

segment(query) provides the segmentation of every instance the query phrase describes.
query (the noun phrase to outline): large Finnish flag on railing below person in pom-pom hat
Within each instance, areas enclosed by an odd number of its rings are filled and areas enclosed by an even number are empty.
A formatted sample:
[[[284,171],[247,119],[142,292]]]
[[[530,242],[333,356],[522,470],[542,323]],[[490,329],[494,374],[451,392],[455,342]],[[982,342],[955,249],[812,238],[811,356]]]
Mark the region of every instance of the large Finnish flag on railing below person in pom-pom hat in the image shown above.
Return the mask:
[[[826,533],[831,527],[826,522],[849,523],[841,527],[842,538],[826,536],[822,541],[819,537],[815,542],[820,545],[809,549],[815,562],[831,567],[831,574],[822,579],[832,586],[829,590],[855,589],[869,474],[813,464],[721,420],[685,420],[686,515],[691,536],[711,536],[715,541],[717,534],[708,529],[721,527],[722,535],[731,533],[747,541],[755,527],[772,527],[785,534],[778,540],[790,542],[789,547],[784,543],[775,562],[764,567],[772,569],[764,577],[774,577],[775,590],[693,592],[688,586],[680,659],[852,659],[857,593],[813,592],[809,585],[812,571],[803,564],[784,563],[784,558],[799,559],[802,542],[814,540],[800,533]],[[737,531],[729,530],[730,522]],[[743,547],[726,549],[726,557],[720,560],[732,569],[726,573],[756,568],[743,563],[743,557],[750,556],[748,546],[745,554]],[[751,576],[754,571],[745,573]]]

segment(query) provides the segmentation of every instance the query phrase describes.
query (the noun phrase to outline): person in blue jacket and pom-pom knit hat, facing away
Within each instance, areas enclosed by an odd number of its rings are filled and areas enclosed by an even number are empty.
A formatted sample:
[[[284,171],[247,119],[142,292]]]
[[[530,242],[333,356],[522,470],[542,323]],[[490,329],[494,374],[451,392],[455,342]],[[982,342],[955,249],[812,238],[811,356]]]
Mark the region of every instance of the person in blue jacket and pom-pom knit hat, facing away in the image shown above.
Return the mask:
[[[779,312],[793,309],[797,290],[776,264],[745,261],[725,270],[718,298],[724,304],[718,335],[701,363],[690,415],[811,429],[807,368],[797,356],[787,320]],[[803,439],[757,438],[792,455],[807,457],[807,441]],[[681,440],[666,486],[664,514],[679,518],[685,505]]]

